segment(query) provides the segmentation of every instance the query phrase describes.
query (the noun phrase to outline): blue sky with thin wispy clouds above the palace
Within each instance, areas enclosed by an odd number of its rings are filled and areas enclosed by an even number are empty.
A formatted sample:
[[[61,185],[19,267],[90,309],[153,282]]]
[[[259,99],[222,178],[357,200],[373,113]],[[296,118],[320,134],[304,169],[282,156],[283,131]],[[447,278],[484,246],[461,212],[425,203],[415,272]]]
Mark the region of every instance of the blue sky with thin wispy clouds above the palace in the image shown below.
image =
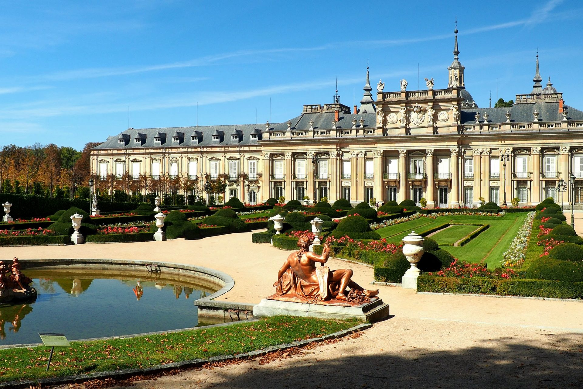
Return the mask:
[[[359,104],[373,88],[447,87],[454,20],[466,89],[529,93],[539,47],[567,105],[583,109],[583,3],[490,1],[3,1],[2,145],[81,149],[129,127],[283,122],[303,104]],[[419,69],[419,78],[418,78]],[[419,84],[417,80],[419,79]],[[271,108],[270,108],[271,100]]]

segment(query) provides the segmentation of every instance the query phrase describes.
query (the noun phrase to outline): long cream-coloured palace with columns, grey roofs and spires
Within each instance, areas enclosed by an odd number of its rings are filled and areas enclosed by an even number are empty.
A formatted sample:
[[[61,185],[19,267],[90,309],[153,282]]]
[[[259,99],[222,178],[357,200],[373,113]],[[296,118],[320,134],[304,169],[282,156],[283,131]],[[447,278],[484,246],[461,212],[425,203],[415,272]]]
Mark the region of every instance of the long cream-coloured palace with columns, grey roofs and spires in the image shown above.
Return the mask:
[[[440,208],[480,198],[559,201],[574,176],[582,203],[583,112],[564,103],[550,77],[542,86],[538,54],[530,93],[517,94],[512,107],[477,107],[454,32],[446,89],[434,89],[432,78],[425,90],[407,90],[403,79],[400,90],[385,92],[381,81],[374,100],[367,68],[360,108],[341,104],[336,90],[332,104],[305,105],[283,123],[129,128],[92,150],[92,173],[102,181],[129,175],[150,191],[170,179],[171,190],[195,187],[201,195],[206,181],[222,180],[226,200],[251,204],[281,196],[353,204],[424,198]]]

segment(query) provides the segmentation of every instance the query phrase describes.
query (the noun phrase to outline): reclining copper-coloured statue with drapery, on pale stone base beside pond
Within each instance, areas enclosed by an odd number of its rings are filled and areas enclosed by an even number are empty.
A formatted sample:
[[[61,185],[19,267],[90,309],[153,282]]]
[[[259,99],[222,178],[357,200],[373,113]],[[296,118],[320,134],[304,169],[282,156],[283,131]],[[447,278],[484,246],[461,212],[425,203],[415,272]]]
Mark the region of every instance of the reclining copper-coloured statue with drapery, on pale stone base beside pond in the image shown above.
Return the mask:
[[[370,302],[370,297],[378,295],[378,289],[367,290],[352,281],[351,269],[331,271],[324,266],[330,255],[328,243],[324,243],[322,255],[308,251],[310,244],[312,239],[308,237],[298,240],[300,250],[291,253],[279,269],[278,281],[273,283],[276,293],[268,299],[313,304],[362,304]],[[322,265],[316,267],[315,262]],[[350,288],[349,293],[346,293],[346,288]]]

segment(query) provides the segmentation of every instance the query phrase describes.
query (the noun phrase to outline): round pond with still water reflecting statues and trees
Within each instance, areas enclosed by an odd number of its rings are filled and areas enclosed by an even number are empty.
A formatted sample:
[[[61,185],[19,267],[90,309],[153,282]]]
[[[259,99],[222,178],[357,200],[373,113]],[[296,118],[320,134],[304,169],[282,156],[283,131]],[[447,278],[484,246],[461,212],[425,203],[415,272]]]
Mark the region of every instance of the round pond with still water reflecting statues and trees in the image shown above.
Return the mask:
[[[130,269],[27,269],[38,297],[0,306],[0,345],[40,342],[38,332],[69,340],[177,330],[216,323],[194,301],[221,288],[184,274]]]

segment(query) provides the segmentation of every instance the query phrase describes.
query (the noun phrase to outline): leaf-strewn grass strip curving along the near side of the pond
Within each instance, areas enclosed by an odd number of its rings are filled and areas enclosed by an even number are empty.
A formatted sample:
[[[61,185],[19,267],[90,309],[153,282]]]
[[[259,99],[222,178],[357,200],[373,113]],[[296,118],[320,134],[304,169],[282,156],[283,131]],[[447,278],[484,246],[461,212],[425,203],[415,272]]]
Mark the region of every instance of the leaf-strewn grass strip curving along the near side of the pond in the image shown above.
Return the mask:
[[[55,348],[45,372],[50,348],[0,350],[0,381],[62,377],[109,370],[145,368],[164,363],[233,355],[267,346],[310,339],[354,327],[356,319],[336,321],[276,316],[251,323],[106,341],[71,342]]]

